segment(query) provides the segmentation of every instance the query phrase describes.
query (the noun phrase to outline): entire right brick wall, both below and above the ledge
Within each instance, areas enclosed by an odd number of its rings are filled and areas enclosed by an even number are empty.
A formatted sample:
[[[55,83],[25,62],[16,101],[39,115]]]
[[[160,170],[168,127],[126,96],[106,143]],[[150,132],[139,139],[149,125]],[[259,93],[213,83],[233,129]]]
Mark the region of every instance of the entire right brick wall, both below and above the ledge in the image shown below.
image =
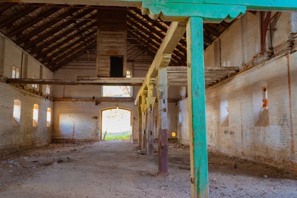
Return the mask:
[[[257,20],[257,15],[247,13],[221,35],[219,40],[222,61],[230,57],[230,66],[241,66],[241,61],[252,66],[254,56],[260,52],[260,41],[255,35],[258,28]],[[277,28],[271,34],[273,48],[279,45],[286,46],[288,37],[293,32],[292,25],[294,26],[294,23],[290,12],[281,13],[271,23],[271,28]],[[212,53],[211,49],[208,47],[205,50],[206,59],[210,56],[207,53]],[[280,50],[277,49],[277,52]],[[296,76],[297,52],[294,52],[290,55],[271,57],[262,64],[207,88],[208,150],[297,171]],[[253,86],[260,81],[267,83],[269,124],[255,127]],[[229,126],[225,127],[221,123],[222,94],[228,94]],[[178,139],[183,143],[189,143],[187,101],[188,99],[184,99],[178,103]]]

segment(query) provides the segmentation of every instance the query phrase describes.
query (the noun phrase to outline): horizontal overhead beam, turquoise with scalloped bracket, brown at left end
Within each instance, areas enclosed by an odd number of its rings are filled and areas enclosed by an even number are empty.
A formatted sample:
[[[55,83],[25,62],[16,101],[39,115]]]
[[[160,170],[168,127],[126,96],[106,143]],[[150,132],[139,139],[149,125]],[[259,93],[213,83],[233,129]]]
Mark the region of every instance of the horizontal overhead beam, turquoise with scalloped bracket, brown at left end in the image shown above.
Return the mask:
[[[0,0],[38,3],[40,0]],[[44,3],[60,3],[59,0],[43,0]],[[89,4],[110,6],[137,6],[152,19],[185,21],[189,17],[201,17],[204,21],[232,20],[247,9],[297,10],[296,0],[65,0],[64,4]]]

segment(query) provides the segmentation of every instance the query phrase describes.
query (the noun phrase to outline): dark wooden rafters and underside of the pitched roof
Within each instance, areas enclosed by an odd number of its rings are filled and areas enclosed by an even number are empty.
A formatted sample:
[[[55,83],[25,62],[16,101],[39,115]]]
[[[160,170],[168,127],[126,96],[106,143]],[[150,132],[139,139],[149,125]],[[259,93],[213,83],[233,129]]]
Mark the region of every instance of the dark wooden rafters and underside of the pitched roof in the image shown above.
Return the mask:
[[[128,26],[127,41],[128,45],[137,47],[136,52],[130,54],[131,57],[137,58],[143,52],[155,56],[171,22],[162,21],[160,18],[152,20],[134,7],[1,3],[0,30],[6,28],[1,31],[5,36],[11,38],[37,60],[56,70],[85,53],[86,49],[96,49],[96,45],[92,43],[96,40],[97,18],[96,14],[92,15],[92,13],[95,9],[109,8],[128,10],[128,19],[125,19]],[[9,9],[13,9],[13,15],[9,15],[11,11],[3,13]],[[20,11],[16,12],[16,10]],[[107,20],[112,22],[112,19]],[[222,30],[229,27],[229,24],[224,21],[220,25],[203,25],[204,49],[213,42],[213,37],[218,37]],[[171,65],[186,65],[185,38],[186,34],[174,49]]]

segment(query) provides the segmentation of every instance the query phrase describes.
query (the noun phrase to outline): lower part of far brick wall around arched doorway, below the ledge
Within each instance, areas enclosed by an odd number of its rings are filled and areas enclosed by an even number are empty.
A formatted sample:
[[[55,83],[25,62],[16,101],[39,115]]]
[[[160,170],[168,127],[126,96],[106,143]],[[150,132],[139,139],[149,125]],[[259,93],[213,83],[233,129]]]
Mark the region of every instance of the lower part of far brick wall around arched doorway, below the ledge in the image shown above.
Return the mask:
[[[95,105],[94,100],[54,101],[53,113],[53,139],[55,141],[98,141],[100,137],[100,112],[109,107],[124,107],[132,110],[132,138],[138,140],[138,111],[134,102],[100,102]],[[168,103],[168,137],[177,132],[176,125],[177,106]],[[154,136],[158,138],[158,103],[155,102],[153,110]]]

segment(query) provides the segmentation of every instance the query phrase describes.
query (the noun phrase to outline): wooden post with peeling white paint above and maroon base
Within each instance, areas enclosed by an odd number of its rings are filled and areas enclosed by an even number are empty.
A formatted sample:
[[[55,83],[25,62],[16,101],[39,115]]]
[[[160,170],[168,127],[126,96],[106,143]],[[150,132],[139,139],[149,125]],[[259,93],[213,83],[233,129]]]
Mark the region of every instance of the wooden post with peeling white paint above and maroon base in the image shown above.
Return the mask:
[[[159,118],[159,173],[168,173],[168,123],[167,123],[167,67],[158,68],[158,118]]]

